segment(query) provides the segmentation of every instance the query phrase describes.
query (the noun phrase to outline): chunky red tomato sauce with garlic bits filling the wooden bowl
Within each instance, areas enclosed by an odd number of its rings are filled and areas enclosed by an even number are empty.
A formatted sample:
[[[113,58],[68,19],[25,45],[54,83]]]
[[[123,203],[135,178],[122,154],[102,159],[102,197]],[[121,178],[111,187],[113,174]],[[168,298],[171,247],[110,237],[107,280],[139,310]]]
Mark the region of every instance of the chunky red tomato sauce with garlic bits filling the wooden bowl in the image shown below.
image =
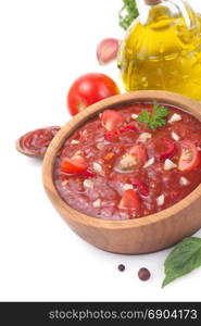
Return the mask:
[[[165,125],[154,131],[138,121],[142,110],[152,112],[153,104],[147,103],[115,111],[122,120],[108,110],[74,131],[54,166],[62,199],[93,217],[127,220],[167,209],[196,189],[201,183],[201,122],[165,108]]]

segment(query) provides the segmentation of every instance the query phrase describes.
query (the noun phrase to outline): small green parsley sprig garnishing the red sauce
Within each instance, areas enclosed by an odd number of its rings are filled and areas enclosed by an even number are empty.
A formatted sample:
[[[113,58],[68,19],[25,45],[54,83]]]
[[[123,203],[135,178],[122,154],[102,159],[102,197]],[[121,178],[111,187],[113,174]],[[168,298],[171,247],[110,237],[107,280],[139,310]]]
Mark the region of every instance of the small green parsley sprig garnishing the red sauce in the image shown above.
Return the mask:
[[[166,125],[165,117],[168,115],[168,113],[169,112],[167,108],[154,103],[152,114],[147,110],[142,110],[137,120],[147,124],[151,130],[155,131],[158,127],[163,127]]]

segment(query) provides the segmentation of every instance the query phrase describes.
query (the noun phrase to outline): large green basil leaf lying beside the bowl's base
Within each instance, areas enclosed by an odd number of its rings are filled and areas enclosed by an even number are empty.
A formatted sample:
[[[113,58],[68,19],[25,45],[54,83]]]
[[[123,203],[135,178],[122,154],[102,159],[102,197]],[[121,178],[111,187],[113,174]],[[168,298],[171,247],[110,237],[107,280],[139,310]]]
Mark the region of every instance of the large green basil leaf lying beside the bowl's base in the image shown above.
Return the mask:
[[[201,238],[186,238],[165,260],[165,279],[162,288],[176,278],[201,266]]]

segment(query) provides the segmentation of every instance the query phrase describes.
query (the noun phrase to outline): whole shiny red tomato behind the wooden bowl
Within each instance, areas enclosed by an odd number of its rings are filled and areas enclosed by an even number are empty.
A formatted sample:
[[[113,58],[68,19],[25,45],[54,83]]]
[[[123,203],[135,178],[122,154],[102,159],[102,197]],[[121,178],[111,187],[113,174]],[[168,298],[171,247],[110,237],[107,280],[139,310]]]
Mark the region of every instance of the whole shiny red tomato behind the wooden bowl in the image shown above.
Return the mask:
[[[75,80],[67,95],[67,108],[72,115],[105,98],[120,93],[113,79],[103,74],[91,73]]]

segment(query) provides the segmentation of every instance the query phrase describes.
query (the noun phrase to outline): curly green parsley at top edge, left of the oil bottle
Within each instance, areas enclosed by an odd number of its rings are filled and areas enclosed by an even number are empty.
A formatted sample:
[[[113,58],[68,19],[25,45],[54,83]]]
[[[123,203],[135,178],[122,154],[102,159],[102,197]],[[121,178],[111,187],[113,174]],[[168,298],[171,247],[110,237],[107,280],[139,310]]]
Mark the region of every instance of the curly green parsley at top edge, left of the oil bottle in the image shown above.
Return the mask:
[[[123,0],[124,5],[118,13],[120,26],[127,29],[139,15],[136,0]]]

